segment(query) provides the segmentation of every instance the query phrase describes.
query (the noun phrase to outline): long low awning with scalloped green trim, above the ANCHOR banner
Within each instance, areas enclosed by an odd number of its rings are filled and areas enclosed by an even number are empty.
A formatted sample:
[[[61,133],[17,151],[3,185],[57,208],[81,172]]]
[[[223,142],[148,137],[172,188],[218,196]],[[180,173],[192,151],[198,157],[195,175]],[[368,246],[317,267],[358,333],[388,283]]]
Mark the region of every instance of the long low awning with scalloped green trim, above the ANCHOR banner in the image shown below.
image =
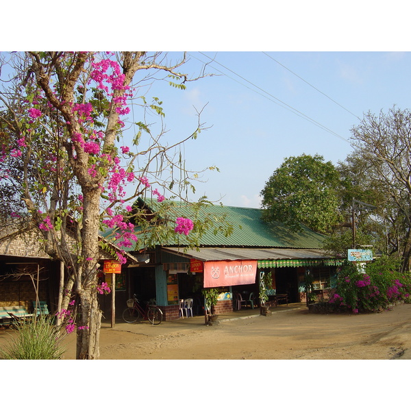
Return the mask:
[[[272,249],[272,248],[214,248],[183,250],[179,247],[162,247],[163,251],[195,258],[201,261],[258,260],[258,268],[281,268],[299,266],[336,266],[343,260],[336,260],[320,249]]]

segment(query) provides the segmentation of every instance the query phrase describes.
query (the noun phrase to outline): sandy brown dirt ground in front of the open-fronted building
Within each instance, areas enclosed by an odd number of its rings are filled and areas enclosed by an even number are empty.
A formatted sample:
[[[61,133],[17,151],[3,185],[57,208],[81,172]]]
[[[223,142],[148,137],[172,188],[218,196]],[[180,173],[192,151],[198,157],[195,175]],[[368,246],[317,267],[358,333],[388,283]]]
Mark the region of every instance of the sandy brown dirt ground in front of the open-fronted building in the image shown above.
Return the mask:
[[[303,305],[243,310],[208,326],[203,317],[104,323],[101,360],[388,360],[411,359],[411,305],[377,314],[309,314]],[[238,318],[238,316],[248,318]],[[236,321],[231,321],[236,319]],[[230,321],[227,321],[230,320]],[[1,345],[0,336],[0,345]],[[75,358],[75,338],[64,358]]]

